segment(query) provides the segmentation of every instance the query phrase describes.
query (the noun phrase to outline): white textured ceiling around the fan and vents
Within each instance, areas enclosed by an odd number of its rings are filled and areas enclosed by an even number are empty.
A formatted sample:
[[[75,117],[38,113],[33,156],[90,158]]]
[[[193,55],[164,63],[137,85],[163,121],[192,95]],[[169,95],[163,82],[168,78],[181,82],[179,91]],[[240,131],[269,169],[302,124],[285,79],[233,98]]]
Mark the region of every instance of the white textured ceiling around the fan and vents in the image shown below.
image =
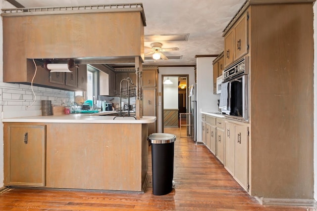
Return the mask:
[[[162,48],[178,47],[165,56],[181,59],[157,61],[146,59],[145,65],[196,65],[196,55],[214,55],[223,51],[223,29],[245,0],[16,0],[24,7],[70,6],[110,3],[143,3],[145,35],[189,34],[187,41],[162,41]],[[6,1],[5,1],[6,2]],[[12,6],[6,2],[5,8]],[[152,42],[145,42],[151,47]],[[149,52],[145,49],[145,53]]]

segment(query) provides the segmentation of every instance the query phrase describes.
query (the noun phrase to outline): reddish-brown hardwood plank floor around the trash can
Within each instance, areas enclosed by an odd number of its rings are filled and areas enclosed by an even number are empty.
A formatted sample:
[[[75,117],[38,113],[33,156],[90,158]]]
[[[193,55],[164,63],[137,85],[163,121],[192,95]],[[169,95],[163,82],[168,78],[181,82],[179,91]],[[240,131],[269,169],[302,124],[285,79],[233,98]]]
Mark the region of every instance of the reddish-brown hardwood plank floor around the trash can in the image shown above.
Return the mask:
[[[174,149],[175,188],[164,196],[147,191],[110,193],[10,188],[0,194],[0,211],[306,211],[304,207],[264,207],[249,196],[204,145],[180,138],[179,128],[165,128],[177,136]]]

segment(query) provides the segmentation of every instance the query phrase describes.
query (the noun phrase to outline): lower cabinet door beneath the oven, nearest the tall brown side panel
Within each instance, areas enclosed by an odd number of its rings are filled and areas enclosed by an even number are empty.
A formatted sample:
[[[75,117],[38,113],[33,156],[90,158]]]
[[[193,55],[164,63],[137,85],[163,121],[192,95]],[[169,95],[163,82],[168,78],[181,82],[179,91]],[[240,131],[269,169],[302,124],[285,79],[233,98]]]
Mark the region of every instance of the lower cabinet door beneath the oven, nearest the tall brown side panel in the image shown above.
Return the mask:
[[[247,190],[248,187],[248,127],[235,126],[234,177]]]

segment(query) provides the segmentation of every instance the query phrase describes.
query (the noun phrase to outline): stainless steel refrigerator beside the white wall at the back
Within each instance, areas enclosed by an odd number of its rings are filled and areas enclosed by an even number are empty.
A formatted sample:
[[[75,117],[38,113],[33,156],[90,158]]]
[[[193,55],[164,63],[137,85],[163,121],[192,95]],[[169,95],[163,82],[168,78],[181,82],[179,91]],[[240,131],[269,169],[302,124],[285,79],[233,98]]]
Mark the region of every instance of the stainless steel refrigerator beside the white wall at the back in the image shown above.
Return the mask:
[[[189,102],[190,102],[190,136],[193,137],[193,141],[197,142],[197,90],[196,83],[189,87]]]

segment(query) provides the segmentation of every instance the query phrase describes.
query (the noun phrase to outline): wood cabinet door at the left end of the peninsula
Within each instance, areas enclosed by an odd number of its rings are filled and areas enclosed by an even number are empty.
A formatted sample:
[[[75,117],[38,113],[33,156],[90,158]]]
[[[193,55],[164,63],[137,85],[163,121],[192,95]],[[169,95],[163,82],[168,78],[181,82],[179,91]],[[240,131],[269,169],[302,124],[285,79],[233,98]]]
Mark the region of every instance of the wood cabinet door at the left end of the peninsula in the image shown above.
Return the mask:
[[[46,126],[7,125],[4,185],[45,186]]]

